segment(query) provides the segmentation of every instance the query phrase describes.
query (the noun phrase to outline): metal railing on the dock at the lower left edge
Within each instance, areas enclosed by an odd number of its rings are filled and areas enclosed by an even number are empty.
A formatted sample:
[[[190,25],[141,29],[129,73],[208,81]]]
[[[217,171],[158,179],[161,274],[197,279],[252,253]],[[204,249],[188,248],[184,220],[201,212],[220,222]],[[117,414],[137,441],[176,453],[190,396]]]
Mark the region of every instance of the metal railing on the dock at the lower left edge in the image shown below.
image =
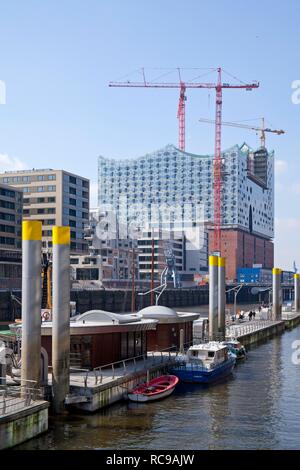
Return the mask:
[[[6,378],[0,377],[0,416],[23,410],[44,399],[42,389],[32,380],[26,380],[23,385],[8,385],[5,382]]]

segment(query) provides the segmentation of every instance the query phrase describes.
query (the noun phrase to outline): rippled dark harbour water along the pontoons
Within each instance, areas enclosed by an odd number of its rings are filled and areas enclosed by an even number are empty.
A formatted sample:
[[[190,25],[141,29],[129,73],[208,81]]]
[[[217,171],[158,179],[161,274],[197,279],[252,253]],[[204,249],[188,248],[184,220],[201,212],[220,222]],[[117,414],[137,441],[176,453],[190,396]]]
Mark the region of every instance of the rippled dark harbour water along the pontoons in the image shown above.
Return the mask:
[[[296,339],[300,326],[253,348],[218,385],[182,384],[156,403],[51,418],[48,433],[18,449],[299,449]]]

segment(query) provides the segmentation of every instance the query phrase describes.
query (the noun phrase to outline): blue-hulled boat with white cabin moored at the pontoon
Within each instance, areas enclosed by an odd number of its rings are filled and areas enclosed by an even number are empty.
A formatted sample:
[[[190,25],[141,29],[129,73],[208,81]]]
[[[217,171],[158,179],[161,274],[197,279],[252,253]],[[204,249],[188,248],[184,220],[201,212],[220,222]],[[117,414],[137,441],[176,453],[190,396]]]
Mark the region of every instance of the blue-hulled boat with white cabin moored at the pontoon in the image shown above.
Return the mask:
[[[182,382],[210,384],[228,376],[236,363],[236,355],[228,346],[218,341],[191,346],[185,356],[180,356],[170,374]]]

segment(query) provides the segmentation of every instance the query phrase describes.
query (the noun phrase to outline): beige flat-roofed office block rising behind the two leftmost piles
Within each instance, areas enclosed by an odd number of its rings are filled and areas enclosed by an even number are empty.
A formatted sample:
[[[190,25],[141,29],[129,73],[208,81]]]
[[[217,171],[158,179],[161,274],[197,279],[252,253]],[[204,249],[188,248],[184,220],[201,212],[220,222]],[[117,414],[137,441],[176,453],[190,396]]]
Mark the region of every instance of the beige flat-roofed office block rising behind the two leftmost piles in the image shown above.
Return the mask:
[[[7,171],[0,183],[23,191],[23,218],[40,220],[42,245],[52,247],[52,227],[71,227],[71,251],[86,252],[84,227],[89,221],[89,180],[64,170]]]

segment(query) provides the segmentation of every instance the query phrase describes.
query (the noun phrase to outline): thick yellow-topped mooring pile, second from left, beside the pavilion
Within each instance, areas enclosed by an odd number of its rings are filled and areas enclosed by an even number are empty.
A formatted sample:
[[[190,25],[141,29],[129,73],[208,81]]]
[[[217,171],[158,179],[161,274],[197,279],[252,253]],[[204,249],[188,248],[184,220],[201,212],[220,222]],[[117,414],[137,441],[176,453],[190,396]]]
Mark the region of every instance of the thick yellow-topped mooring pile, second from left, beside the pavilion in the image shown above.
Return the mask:
[[[70,382],[70,227],[53,227],[53,411],[64,411]]]

